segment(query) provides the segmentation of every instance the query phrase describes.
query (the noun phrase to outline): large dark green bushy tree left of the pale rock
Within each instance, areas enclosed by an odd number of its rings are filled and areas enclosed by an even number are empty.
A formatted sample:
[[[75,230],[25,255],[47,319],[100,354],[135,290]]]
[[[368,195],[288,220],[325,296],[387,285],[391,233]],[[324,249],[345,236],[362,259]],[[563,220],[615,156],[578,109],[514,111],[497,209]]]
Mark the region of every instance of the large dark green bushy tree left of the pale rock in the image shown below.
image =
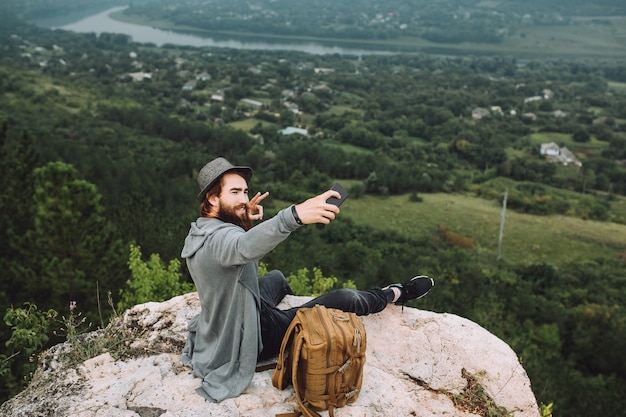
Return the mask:
[[[120,288],[121,241],[104,217],[96,186],[78,179],[72,165],[51,162],[34,177],[33,226],[22,245],[30,265],[15,295],[57,311],[76,301],[95,321],[106,301],[99,297]]]

